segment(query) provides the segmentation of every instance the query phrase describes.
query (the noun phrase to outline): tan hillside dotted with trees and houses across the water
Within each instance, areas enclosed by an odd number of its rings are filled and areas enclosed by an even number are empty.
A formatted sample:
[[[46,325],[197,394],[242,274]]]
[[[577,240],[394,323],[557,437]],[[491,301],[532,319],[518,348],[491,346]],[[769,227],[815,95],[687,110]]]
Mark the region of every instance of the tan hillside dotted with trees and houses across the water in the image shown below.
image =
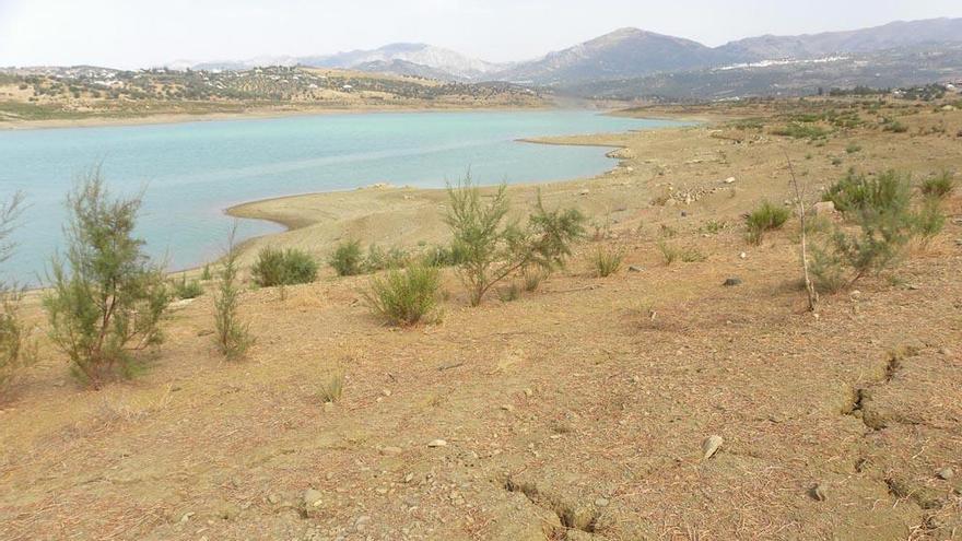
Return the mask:
[[[538,106],[543,106],[538,93],[517,85],[337,69],[121,71],[51,67],[0,71],[0,127],[30,121],[305,110]]]

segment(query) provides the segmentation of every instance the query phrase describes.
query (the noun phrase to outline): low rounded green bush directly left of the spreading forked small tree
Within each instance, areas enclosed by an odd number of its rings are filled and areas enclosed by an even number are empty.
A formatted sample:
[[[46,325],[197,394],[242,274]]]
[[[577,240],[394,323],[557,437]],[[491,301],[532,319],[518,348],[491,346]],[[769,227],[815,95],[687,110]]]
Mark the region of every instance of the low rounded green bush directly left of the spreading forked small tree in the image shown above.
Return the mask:
[[[412,264],[392,269],[371,280],[367,302],[391,325],[410,326],[436,315],[441,271],[436,267]]]

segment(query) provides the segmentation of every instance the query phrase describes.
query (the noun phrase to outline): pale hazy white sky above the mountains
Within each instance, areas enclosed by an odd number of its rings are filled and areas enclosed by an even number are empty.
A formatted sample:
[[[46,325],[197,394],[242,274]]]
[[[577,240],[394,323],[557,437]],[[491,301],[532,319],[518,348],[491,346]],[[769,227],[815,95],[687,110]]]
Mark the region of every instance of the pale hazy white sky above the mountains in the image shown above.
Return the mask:
[[[622,26],[720,45],[962,16],[960,0],[0,0],[0,66],[118,68],[423,42],[523,60]]]

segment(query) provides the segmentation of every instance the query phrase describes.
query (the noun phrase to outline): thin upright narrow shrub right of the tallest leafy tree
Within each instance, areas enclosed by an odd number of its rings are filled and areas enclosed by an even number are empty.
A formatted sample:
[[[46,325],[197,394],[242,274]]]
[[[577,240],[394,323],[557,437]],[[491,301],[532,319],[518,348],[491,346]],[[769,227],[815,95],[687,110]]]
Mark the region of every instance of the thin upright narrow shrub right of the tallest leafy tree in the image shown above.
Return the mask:
[[[242,321],[238,314],[242,287],[237,277],[237,247],[234,245],[236,231],[235,225],[227,242],[227,252],[224,255],[223,269],[214,294],[218,349],[232,361],[243,357],[254,344],[250,326]]]

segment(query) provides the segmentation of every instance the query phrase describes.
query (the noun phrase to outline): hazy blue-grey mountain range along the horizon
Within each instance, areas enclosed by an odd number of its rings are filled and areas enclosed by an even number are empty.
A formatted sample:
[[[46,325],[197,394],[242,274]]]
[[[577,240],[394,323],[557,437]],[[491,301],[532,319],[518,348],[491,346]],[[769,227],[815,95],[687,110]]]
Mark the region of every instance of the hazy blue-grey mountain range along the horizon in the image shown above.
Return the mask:
[[[873,80],[866,74],[859,83],[876,86],[894,85],[905,81],[930,82],[923,77],[962,77],[962,66],[953,46],[962,44],[962,19],[930,19],[894,22],[882,26],[845,32],[825,32],[799,36],[765,35],[708,47],[691,39],[667,36],[638,28],[621,28],[595,39],[552,51],[533,60],[497,63],[467,57],[457,51],[426,44],[391,44],[372,50],[352,50],[335,55],[308,57],[255,58],[245,61],[206,62],[195,69],[247,69],[256,66],[282,64],[314,68],[339,68],[368,72],[413,75],[454,82],[505,81],[564,92],[578,89],[583,94],[591,89],[597,94],[612,94],[611,87],[624,94],[634,83],[638,86],[629,95],[645,95],[646,80],[661,80],[671,74],[684,78],[707,78],[700,86],[708,89],[705,96],[725,95],[731,90],[730,73],[720,77],[719,70],[767,70],[781,77],[791,77],[791,64],[808,64],[818,71],[820,83],[842,84],[846,66],[865,70],[875,63],[888,67]],[[953,54],[932,63],[929,52]],[[917,58],[907,51],[923,55],[922,70]],[[928,55],[927,55],[928,54]],[[894,59],[901,59],[895,61]],[[847,64],[846,64],[847,62]],[[831,66],[829,66],[831,64]],[[178,66],[187,66],[183,62]],[[918,68],[918,69],[916,69]],[[917,73],[916,73],[917,72]],[[918,77],[913,77],[917,74]],[[753,73],[759,79],[759,73]],[[765,74],[762,73],[762,80]],[[718,82],[716,83],[715,80]],[[650,81],[649,81],[650,82]],[[713,85],[718,87],[713,89]],[[665,89],[666,84],[656,85]],[[752,92],[751,89],[744,89]],[[786,84],[785,87],[798,85]],[[801,85],[805,86],[805,85]],[[606,90],[608,92],[606,92]],[[670,93],[669,93],[670,94]]]

